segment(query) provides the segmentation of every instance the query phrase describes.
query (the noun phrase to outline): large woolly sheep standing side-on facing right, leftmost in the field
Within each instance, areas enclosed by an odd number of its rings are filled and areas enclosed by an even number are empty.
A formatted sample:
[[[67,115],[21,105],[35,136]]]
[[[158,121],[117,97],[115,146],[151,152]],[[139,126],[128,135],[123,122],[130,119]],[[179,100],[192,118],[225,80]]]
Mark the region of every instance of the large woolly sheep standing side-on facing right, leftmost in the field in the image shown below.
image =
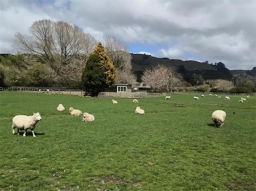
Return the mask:
[[[42,120],[42,118],[39,113],[33,113],[32,116],[14,116],[12,119],[12,134],[15,133],[14,128],[17,128],[17,134],[19,135],[20,130],[24,130],[23,136],[26,137],[26,132],[30,129],[32,130],[33,137],[36,137],[34,134],[34,128],[36,128],[36,123],[40,120]]]

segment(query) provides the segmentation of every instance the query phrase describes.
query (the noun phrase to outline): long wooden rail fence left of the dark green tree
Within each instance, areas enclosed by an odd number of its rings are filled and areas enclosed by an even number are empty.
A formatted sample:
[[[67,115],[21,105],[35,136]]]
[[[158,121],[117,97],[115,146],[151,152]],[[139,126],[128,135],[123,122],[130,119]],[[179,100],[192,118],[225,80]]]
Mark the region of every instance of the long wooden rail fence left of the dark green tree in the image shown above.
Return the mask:
[[[32,92],[32,93],[50,93],[50,94],[69,94],[84,95],[84,91],[78,89],[67,89],[59,87],[17,87],[12,86],[7,91]]]

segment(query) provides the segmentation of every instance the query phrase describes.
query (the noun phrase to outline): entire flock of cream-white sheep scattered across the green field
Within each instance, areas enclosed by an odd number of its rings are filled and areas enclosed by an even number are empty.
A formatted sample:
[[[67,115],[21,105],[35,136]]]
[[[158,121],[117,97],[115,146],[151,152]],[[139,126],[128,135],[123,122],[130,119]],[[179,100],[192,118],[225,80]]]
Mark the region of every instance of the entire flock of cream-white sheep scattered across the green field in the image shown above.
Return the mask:
[[[204,95],[201,95],[204,97]],[[209,94],[209,96],[212,96]],[[214,96],[217,96],[216,94]],[[170,99],[171,96],[165,96],[165,99]],[[247,96],[249,97],[249,96]],[[218,96],[218,98],[221,98],[221,96]],[[198,97],[194,96],[194,100],[199,100]],[[226,96],[224,100],[230,100],[230,97]],[[245,98],[241,98],[238,102],[243,102],[246,100]],[[132,101],[133,103],[138,103],[137,99],[134,99]],[[118,102],[116,100],[112,100],[113,104],[117,104]],[[57,107],[58,111],[64,111],[65,108],[62,104],[59,104]],[[74,109],[72,107],[69,108],[69,112],[71,115],[82,115],[83,114],[83,119],[82,121],[90,122],[94,121],[94,116],[92,114],[89,114],[87,112],[82,113],[78,109]],[[145,114],[145,111],[141,109],[140,107],[136,107],[135,110],[136,114]],[[212,113],[212,121],[214,122],[214,126],[222,126],[224,124],[224,120],[226,118],[226,112],[222,110],[216,110]],[[24,130],[23,136],[26,136],[26,132],[28,129],[32,131],[32,134],[34,137],[36,135],[34,134],[34,128],[36,127],[36,124],[38,121],[42,120],[41,116],[39,113],[33,113],[32,116],[26,116],[26,115],[16,115],[12,119],[12,134],[15,134],[15,128],[17,128],[17,134],[19,134],[20,130]]]

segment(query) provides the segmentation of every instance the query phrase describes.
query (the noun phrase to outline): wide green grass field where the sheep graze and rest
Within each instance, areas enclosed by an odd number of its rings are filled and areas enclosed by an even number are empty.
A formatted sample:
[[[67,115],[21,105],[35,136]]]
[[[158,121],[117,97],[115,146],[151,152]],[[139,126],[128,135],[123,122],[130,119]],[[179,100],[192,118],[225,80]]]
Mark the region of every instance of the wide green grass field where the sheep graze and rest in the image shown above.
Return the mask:
[[[112,98],[1,92],[0,190],[256,190],[256,98],[193,96],[113,105]],[[145,115],[134,113],[140,104]],[[95,121],[70,116],[69,107]],[[221,128],[211,120],[218,109],[227,114]],[[12,118],[32,112],[42,117],[37,137],[12,135]]]

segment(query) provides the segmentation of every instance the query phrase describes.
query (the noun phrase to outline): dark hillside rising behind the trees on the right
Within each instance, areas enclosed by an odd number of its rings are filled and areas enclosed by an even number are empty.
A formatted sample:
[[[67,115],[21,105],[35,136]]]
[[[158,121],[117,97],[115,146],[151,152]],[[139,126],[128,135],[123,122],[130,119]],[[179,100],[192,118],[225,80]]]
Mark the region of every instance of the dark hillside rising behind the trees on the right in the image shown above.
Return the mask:
[[[168,58],[157,58],[151,55],[145,54],[133,54],[132,56],[132,69],[137,75],[138,81],[143,74],[143,71],[150,67],[156,67],[157,64],[172,67],[178,70],[182,74],[184,79],[190,82],[194,73],[200,74],[204,79],[227,79],[231,80],[233,77],[239,74],[254,76],[253,70],[229,70],[225,67],[224,63],[217,63],[212,65],[204,62],[198,62],[193,60],[178,60]]]

